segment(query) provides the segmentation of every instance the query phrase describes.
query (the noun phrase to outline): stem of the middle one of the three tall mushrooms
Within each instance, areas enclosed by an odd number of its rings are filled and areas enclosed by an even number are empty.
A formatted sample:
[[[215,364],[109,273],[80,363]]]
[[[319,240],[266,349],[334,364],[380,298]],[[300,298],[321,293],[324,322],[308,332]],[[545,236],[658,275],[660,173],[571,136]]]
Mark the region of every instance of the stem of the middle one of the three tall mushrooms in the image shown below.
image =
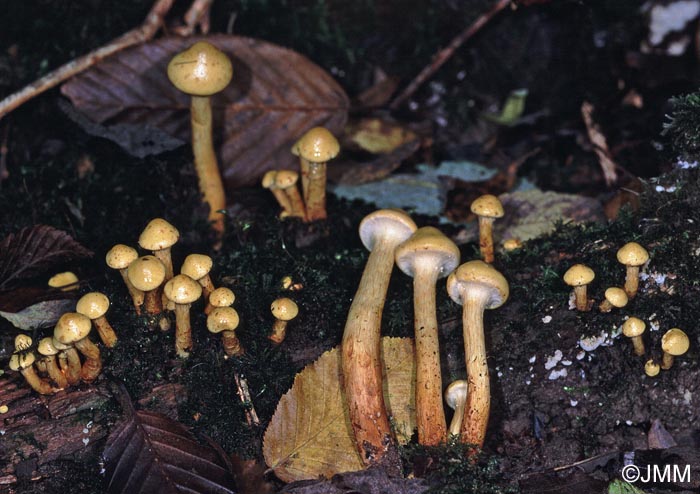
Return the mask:
[[[442,407],[442,373],[438,342],[435,283],[438,271],[418,263],[413,278],[413,307],[416,339],[416,423],[418,442],[437,446],[447,439]]]

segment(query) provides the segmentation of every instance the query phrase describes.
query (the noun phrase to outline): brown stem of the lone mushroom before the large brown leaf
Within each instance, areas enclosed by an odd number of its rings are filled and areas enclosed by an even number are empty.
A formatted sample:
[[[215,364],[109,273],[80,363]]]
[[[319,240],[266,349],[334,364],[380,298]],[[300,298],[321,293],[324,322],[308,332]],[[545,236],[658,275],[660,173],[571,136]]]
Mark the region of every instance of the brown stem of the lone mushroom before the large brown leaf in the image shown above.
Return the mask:
[[[199,190],[204,202],[209,204],[209,221],[219,237],[224,232],[224,216],[219,212],[226,209],[224,185],[216,162],[212,140],[212,112],[209,96],[192,96],[192,152],[194,167],[199,177]],[[170,279],[170,277],[166,279]]]

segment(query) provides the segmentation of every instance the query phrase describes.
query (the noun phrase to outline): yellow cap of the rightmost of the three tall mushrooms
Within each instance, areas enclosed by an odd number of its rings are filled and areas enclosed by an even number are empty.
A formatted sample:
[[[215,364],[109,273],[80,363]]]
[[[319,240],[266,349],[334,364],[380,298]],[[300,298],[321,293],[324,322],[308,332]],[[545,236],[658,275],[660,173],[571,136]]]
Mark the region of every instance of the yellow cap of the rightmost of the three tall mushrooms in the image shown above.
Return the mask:
[[[500,307],[508,300],[510,287],[508,281],[496,268],[484,261],[469,261],[459,266],[447,278],[447,293],[450,298],[462,305],[462,291],[470,288],[486,288],[490,297],[486,303],[487,309]]]

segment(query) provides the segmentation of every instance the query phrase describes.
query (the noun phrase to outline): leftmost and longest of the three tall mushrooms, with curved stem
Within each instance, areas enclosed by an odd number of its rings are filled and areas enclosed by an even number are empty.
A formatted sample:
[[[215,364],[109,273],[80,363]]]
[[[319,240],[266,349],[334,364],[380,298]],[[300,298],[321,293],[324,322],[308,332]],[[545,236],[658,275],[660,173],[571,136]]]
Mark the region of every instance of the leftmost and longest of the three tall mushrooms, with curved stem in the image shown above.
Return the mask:
[[[350,423],[365,464],[380,460],[393,444],[382,391],[382,310],[394,251],[415,231],[413,220],[394,209],[375,211],[360,223],[360,239],[371,252],[350,305],[341,352]]]

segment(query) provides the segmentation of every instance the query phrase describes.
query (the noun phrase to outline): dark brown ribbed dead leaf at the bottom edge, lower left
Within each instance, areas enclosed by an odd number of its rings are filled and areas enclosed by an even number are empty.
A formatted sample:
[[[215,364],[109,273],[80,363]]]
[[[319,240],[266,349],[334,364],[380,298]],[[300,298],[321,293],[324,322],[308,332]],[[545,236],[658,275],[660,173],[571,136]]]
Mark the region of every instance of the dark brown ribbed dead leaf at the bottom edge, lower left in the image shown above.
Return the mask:
[[[132,413],[109,436],[103,457],[110,494],[235,492],[219,454],[158,413]]]

